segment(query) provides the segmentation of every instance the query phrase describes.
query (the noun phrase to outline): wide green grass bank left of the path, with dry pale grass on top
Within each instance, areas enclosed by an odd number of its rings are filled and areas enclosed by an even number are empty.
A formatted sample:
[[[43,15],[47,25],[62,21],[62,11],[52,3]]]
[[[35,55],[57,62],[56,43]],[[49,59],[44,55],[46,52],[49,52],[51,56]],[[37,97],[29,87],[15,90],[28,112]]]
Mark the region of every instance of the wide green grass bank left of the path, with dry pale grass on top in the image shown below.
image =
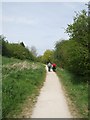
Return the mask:
[[[25,100],[39,94],[45,80],[45,68],[40,63],[3,58],[2,117],[12,118],[21,112]]]

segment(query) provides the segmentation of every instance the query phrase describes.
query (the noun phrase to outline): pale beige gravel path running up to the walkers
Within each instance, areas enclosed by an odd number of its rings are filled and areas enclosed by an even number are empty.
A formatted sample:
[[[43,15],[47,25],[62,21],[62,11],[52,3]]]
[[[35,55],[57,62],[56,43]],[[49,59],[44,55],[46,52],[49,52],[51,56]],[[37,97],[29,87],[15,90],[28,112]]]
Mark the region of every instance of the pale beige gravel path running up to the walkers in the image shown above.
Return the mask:
[[[47,71],[31,118],[72,118],[56,73]]]

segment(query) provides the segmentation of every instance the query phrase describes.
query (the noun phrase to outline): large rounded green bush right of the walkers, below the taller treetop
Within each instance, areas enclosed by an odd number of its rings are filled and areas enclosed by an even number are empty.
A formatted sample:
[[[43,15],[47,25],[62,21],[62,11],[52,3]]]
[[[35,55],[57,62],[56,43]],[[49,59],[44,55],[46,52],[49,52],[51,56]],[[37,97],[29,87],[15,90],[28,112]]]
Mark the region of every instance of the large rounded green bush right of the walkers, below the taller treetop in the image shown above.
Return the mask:
[[[55,56],[62,67],[75,74],[86,75],[88,72],[88,50],[78,45],[76,41],[57,43]]]

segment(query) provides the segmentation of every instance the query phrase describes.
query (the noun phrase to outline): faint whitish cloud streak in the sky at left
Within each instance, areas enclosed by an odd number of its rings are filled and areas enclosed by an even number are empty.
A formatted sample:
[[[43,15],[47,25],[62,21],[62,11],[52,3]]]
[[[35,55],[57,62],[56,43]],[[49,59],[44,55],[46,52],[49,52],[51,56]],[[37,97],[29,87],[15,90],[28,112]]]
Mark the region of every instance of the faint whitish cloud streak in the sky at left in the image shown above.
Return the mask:
[[[3,16],[3,22],[16,24],[35,25],[37,22],[34,19],[15,16]]]

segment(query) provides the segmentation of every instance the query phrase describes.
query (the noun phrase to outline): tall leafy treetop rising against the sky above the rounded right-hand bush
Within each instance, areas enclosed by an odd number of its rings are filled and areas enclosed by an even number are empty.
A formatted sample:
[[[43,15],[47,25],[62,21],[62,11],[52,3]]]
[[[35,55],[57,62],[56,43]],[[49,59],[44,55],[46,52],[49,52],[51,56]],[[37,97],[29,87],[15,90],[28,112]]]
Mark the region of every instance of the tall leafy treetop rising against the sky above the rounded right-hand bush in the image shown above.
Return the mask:
[[[85,10],[76,13],[73,24],[68,25],[66,32],[71,39],[88,47],[88,16]]]

